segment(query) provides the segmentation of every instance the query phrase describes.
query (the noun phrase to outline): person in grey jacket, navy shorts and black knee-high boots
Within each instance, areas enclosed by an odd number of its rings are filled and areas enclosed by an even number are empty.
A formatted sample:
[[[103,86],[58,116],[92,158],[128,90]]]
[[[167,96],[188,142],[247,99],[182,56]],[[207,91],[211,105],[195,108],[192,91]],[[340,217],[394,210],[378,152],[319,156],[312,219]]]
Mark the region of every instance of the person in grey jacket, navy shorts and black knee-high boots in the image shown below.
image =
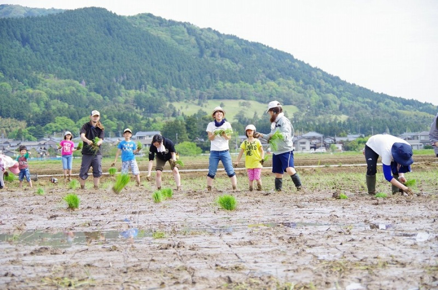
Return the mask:
[[[269,102],[268,110],[271,120],[271,132],[269,134],[256,133],[254,137],[268,140],[276,131],[280,132],[283,139],[276,142],[276,148],[272,154],[272,172],[275,175],[274,186],[276,191],[281,191],[283,188],[284,172],[289,174],[295,188],[302,188],[301,180],[298,173],[295,171],[293,164],[293,126],[291,121],[284,116],[282,105],[277,101]]]

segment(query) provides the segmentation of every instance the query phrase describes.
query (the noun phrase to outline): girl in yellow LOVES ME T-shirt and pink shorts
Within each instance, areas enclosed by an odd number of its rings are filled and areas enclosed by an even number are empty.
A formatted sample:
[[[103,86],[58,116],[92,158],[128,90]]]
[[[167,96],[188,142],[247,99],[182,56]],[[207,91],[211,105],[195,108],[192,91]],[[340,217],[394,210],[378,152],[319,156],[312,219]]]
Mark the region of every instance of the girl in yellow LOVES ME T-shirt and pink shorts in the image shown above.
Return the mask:
[[[260,179],[261,169],[263,167],[263,159],[265,157],[265,152],[260,140],[254,138],[254,133],[256,132],[256,127],[252,124],[246,126],[245,135],[248,137],[240,145],[240,152],[237,156],[237,160],[234,165],[240,162],[240,158],[245,152],[245,167],[248,172],[249,179],[249,190],[253,191],[254,180],[257,182],[257,190],[262,190],[262,183]]]

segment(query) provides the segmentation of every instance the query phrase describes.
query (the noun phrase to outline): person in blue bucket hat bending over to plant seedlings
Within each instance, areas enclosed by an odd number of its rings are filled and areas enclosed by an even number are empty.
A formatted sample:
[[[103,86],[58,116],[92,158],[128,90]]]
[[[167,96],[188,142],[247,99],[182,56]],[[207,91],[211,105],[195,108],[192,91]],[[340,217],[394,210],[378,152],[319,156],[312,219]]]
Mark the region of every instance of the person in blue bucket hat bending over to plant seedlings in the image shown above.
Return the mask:
[[[383,175],[391,183],[392,193],[399,192],[399,188],[413,195],[410,188],[402,183],[406,182],[404,173],[411,171],[412,146],[405,140],[387,134],[377,134],[369,137],[363,151],[366,160],[366,187],[368,194],[376,194],[377,158],[382,157]],[[392,173],[392,175],[391,175]]]

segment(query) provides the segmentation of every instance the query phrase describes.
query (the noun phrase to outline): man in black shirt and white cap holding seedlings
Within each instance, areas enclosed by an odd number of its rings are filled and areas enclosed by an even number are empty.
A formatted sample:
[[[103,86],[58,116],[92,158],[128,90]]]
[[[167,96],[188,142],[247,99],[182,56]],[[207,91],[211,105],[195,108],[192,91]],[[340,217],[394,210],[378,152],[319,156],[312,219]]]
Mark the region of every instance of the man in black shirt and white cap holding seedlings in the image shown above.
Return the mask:
[[[79,130],[79,133],[81,140],[84,141],[84,146],[81,151],[81,169],[79,171],[81,189],[85,189],[85,180],[88,178],[90,167],[93,168],[92,174],[94,189],[98,189],[100,176],[102,176],[101,145],[105,137],[104,126],[100,122],[99,111],[91,111],[90,122],[85,123]]]

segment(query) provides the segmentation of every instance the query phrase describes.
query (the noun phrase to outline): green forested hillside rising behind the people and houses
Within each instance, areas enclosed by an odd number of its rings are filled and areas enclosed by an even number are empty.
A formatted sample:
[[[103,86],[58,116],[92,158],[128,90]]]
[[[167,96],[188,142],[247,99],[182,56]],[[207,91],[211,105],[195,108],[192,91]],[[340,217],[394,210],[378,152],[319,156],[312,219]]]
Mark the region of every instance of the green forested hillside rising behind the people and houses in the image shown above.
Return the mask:
[[[205,138],[211,108],[187,116],[172,102],[202,107],[213,99],[294,105],[296,128],[330,136],[427,130],[438,110],[348,84],[263,44],[151,14],[84,8],[0,18],[0,132],[9,137],[77,132],[98,109],[107,136],[177,128],[180,141],[196,140]],[[268,130],[263,111],[241,109],[237,131],[248,122]]]

